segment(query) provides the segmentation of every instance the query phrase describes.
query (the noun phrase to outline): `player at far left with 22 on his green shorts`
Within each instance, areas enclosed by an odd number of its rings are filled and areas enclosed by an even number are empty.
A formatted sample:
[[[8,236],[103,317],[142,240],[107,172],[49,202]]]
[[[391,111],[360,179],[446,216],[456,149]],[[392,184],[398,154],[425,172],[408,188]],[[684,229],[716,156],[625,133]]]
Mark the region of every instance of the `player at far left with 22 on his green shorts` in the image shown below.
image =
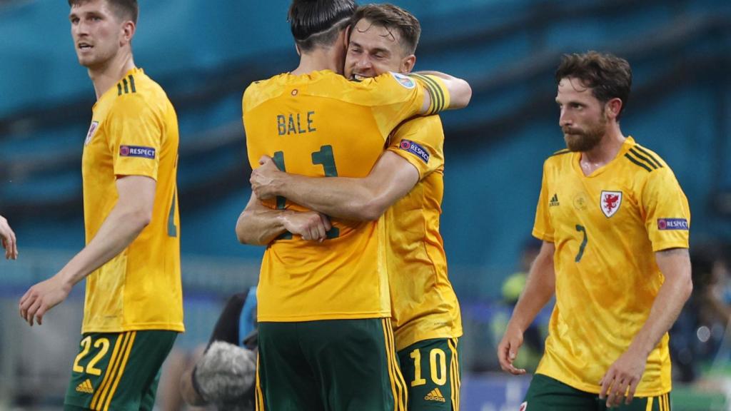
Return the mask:
[[[30,325],[86,278],[80,352],[65,410],[152,410],[160,366],[183,331],[175,174],[178,121],[132,59],[136,0],[69,0],[77,58],[96,104],[83,148],[86,247],[20,298]]]

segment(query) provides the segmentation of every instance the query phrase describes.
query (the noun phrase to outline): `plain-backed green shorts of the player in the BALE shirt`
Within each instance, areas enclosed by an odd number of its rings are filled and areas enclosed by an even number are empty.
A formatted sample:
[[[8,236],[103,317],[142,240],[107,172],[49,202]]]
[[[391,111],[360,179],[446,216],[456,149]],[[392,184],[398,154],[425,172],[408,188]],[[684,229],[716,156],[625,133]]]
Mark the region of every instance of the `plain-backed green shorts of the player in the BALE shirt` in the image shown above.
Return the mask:
[[[391,321],[259,323],[257,411],[406,411]]]

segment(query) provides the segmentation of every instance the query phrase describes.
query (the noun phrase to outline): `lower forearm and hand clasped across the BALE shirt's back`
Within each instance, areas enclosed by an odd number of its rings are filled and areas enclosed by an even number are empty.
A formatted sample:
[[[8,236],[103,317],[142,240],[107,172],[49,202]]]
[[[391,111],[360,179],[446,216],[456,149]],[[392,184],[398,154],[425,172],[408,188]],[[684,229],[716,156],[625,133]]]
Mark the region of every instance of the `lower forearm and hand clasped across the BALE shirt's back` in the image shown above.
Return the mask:
[[[241,244],[263,246],[284,233],[301,235],[303,240],[322,241],[330,230],[330,219],[313,211],[273,210],[264,206],[255,192],[236,222]]]

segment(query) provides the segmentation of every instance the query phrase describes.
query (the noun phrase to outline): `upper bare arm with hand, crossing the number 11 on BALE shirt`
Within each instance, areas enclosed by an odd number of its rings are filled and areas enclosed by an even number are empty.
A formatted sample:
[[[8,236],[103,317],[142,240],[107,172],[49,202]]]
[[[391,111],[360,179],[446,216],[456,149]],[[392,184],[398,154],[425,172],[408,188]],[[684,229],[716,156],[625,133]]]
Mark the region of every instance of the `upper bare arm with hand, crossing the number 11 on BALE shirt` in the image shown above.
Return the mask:
[[[385,151],[364,178],[314,178],[279,171],[262,157],[251,173],[251,189],[264,198],[280,195],[340,219],[376,220],[419,181],[419,172],[398,154]]]

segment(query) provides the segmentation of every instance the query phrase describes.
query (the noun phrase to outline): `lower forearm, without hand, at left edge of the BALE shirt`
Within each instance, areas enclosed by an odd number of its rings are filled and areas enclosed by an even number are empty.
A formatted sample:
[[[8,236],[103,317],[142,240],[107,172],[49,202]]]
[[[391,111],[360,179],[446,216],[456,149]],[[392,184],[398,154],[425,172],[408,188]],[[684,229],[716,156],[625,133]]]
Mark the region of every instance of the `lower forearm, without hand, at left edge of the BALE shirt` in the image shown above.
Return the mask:
[[[258,200],[257,200],[258,201]],[[265,246],[274,241],[279,235],[287,232],[284,228],[284,218],[294,211],[272,210],[260,206],[247,208],[238,217],[236,222],[236,236],[241,244]]]

